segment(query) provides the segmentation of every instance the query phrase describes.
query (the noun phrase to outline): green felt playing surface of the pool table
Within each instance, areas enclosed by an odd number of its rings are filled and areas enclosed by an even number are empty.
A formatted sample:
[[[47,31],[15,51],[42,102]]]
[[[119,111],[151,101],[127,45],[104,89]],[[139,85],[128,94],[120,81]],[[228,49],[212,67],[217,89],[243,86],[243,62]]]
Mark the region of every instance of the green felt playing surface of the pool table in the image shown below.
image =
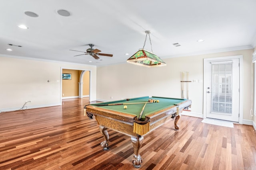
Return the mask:
[[[97,106],[97,105],[102,105],[102,104],[123,104],[123,105],[110,105],[110,106],[98,106],[98,107],[102,107],[105,109],[118,111],[118,112],[122,112],[122,113],[128,113],[128,114],[132,114],[132,115],[138,117],[144,104],[129,104],[129,103],[148,102],[148,99],[159,100],[159,102],[147,103],[144,108],[142,118],[144,118],[145,116],[152,114],[160,109],[174,106],[175,104],[179,104],[180,102],[184,102],[187,100],[187,99],[178,99],[178,98],[162,98],[162,97],[154,97],[154,96],[152,96],[150,98],[148,96],[145,96],[145,97],[140,97],[140,98],[131,98],[129,101],[117,100],[114,102],[104,102],[104,103],[92,104],[92,105]],[[124,109],[125,105],[127,106],[127,109]]]

